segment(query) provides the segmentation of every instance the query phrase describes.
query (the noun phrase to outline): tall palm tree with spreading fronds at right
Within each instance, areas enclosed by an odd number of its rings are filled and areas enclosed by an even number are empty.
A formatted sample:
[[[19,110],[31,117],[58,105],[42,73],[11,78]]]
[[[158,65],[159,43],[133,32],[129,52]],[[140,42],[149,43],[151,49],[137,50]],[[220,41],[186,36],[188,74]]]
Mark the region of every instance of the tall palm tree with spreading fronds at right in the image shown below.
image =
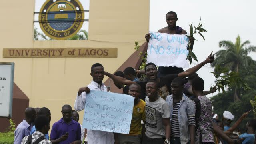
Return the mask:
[[[232,72],[239,72],[239,68],[246,68],[248,62],[251,61],[250,52],[256,52],[256,46],[249,45],[250,41],[246,40],[241,44],[240,36],[236,38],[236,42],[223,40],[219,42],[219,47],[225,48],[216,52],[216,60],[211,64],[212,67],[220,65],[229,68]],[[240,101],[239,90],[234,87],[234,101]]]

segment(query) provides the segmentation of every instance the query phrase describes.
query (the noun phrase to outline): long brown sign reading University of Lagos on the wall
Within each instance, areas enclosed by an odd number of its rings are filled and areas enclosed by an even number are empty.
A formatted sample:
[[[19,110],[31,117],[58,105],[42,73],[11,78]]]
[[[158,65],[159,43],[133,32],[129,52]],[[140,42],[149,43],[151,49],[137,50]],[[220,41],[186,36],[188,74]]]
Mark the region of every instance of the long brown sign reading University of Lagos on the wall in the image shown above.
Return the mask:
[[[116,58],[117,48],[4,48],[3,58],[102,57]]]

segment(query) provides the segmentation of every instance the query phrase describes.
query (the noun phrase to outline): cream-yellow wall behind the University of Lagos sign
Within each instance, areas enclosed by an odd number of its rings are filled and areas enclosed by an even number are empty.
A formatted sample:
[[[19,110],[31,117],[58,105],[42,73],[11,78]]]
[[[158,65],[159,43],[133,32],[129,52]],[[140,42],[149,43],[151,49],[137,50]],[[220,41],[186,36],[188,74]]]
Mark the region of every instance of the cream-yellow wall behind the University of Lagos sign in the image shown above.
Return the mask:
[[[79,87],[92,80],[99,62],[114,72],[142,44],[149,30],[149,0],[90,0],[89,40],[33,41],[34,0],[3,0],[0,6],[0,62],[14,62],[14,82],[31,107],[47,107],[51,126],[61,107],[74,100]],[[3,48],[118,48],[118,58],[3,58]],[[104,78],[106,80],[107,77]],[[82,123],[83,111],[80,112]]]

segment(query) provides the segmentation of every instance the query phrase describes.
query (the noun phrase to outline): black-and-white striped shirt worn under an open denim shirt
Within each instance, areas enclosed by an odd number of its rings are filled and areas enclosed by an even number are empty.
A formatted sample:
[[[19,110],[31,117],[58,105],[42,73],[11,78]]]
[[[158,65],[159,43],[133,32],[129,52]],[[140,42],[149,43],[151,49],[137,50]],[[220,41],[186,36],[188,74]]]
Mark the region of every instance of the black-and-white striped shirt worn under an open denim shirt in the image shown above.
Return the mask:
[[[179,119],[178,119],[178,109],[180,107],[180,102],[173,103],[172,105],[172,121],[171,121],[171,136],[175,138],[180,137],[180,127],[179,127]],[[188,117],[188,125],[196,126],[195,117]]]

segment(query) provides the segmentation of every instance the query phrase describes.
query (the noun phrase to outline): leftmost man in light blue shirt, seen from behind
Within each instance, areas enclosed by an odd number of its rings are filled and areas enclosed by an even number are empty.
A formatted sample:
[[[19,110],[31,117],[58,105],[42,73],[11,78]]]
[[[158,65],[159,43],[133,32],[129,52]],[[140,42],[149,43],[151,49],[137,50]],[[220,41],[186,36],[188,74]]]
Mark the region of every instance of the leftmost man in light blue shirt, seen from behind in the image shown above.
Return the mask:
[[[35,119],[36,110],[34,108],[26,108],[25,118],[17,126],[14,132],[14,144],[20,144],[22,142],[22,138],[30,134],[30,130],[33,127],[31,123],[34,122]]]

